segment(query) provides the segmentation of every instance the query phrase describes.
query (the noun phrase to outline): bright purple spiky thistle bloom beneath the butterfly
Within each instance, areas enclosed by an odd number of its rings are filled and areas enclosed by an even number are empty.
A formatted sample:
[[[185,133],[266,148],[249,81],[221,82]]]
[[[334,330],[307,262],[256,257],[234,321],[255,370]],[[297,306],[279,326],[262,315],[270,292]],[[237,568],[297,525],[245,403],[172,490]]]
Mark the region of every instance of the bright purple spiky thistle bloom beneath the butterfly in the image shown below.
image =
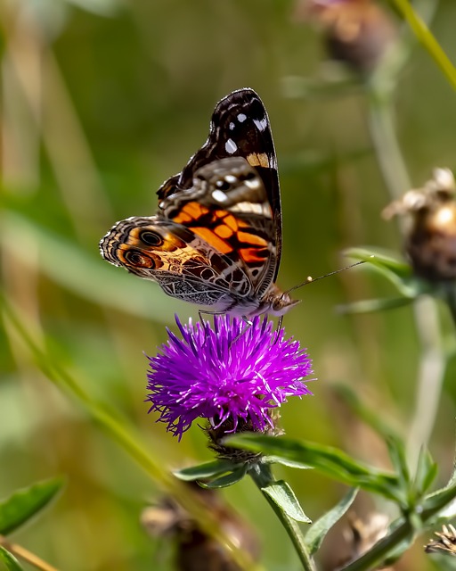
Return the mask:
[[[208,418],[213,428],[232,426],[228,432],[247,421],[264,432],[273,427],[271,409],[289,396],[312,394],[301,380],[312,373],[311,360],[297,341],[284,340],[283,329],[273,331],[267,318],[246,326],[216,316],[214,328],[209,322],[182,325],[177,316],[175,321],[183,338],[168,329],[167,343],[157,357],[148,357],[146,401],[179,440],[196,418]]]

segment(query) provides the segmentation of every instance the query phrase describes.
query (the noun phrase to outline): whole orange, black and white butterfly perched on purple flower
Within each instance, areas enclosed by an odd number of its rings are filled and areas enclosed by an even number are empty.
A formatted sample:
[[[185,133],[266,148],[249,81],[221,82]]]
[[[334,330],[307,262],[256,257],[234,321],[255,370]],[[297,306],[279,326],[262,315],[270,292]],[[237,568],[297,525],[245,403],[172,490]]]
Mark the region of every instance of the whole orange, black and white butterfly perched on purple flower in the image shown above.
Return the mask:
[[[253,89],[216,104],[208,140],[157,194],[154,216],[121,220],[102,238],[105,260],[204,313],[248,320],[297,303],[275,284],[281,193],[269,118]]]

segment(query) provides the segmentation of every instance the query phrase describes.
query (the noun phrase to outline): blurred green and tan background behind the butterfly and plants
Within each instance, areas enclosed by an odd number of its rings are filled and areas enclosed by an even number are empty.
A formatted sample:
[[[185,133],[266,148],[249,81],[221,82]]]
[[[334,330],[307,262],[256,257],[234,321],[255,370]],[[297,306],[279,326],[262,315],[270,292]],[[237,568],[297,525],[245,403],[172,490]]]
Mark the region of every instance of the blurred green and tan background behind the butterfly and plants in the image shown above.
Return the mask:
[[[436,8],[432,29],[454,56],[456,4],[426,4]],[[98,242],[116,220],[153,213],[156,189],[206,139],[216,101],[254,87],[270,115],[281,176],[280,285],[345,265],[347,247],[400,253],[395,223],[380,217],[391,189],[372,145],[368,88],[343,66],[328,65],[322,29],[291,1],[15,0],[0,10],[3,294],[55,364],[95,400],[120,410],[167,468],[208,460],[197,427],[178,443],[143,402],[143,352],[164,342],[175,312],[187,319],[196,310],[109,266]],[[402,34],[403,23],[389,15]],[[456,102],[428,53],[405,45],[389,112],[411,184],[421,186],[436,166],[454,167]],[[297,292],[302,303],[284,323],[307,347],[318,381],[313,397],[283,408],[289,436],[387,468],[384,444],[340,398],[343,384],[413,439],[422,351],[413,310],[351,317],[335,310],[392,294],[365,269]],[[442,308],[438,319],[451,352]],[[454,440],[448,370],[430,442],[440,483],[451,471]],[[0,372],[0,496],[48,476],[68,477],[59,501],[14,540],[65,571],[172,568],[166,542],[140,524],[159,485],[38,372],[7,320]],[[313,519],[345,492],[312,471],[280,468],[277,476],[289,480]],[[223,495],[256,527],[265,567],[298,568],[253,484],[242,481]],[[391,509],[367,498],[359,509],[376,508]],[[339,541],[334,537],[330,550]],[[418,545],[397,568],[434,568],[421,551]]]

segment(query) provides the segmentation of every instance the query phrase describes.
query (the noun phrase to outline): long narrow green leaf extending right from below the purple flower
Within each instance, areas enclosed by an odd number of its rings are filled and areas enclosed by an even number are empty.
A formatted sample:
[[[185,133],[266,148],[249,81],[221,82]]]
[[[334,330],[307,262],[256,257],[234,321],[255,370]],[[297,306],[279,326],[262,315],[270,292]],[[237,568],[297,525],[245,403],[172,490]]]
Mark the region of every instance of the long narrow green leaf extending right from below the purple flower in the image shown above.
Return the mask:
[[[230,446],[299,462],[344,484],[379,493],[391,500],[403,501],[403,493],[395,475],[366,466],[336,448],[265,434],[236,434],[226,440]]]

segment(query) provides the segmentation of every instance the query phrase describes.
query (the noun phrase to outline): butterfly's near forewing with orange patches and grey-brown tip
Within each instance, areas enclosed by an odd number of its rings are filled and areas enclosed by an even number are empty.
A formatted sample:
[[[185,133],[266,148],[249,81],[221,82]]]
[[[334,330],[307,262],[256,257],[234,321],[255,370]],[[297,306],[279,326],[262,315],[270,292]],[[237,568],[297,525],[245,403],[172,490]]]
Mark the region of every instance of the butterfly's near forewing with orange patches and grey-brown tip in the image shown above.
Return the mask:
[[[258,171],[241,157],[212,161],[195,173],[191,188],[171,194],[160,213],[223,253],[248,276],[261,300],[276,274],[275,221]],[[240,298],[239,292],[232,294]]]

